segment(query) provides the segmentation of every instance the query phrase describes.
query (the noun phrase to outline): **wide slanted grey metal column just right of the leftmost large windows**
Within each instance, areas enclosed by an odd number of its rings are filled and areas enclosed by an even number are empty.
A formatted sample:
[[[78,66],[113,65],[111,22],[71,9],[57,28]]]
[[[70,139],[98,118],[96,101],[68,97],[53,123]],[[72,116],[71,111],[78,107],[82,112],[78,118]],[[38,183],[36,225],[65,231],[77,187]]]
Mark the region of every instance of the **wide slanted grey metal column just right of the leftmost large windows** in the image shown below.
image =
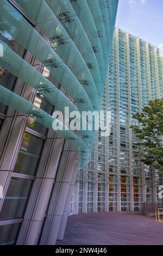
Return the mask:
[[[64,139],[48,132],[17,245],[36,245],[52,191]]]

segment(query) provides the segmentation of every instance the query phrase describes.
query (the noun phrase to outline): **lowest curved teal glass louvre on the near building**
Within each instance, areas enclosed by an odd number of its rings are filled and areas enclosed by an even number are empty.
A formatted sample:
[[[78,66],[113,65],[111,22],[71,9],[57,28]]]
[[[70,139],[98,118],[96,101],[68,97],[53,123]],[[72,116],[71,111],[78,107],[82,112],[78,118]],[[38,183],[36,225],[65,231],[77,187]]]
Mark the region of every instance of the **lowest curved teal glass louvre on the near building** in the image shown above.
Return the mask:
[[[1,58],[0,58],[1,60]],[[21,113],[32,115],[34,118],[37,119],[37,121],[42,124],[43,126],[46,126],[48,129],[53,130],[53,122],[54,120],[57,120],[52,117],[52,115],[47,114],[42,109],[36,107],[29,101],[23,99],[22,97],[18,96],[15,93],[12,93],[7,88],[4,88],[0,85],[0,101],[4,103],[5,105],[8,105]],[[12,99],[12,100],[11,100]],[[89,160],[90,154],[89,148],[92,147],[93,140],[90,138],[80,138],[77,133],[72,131],[71,129],[66,130],[65,125],[62,125],[63,129],[57,130],[56,132],[59,133],[60,136],[66,138],[70,144],[77,149],[78,151],[81,149],[80,157],[83,159],[83,164],[87,164],[87,161]],[[83,134],[85,134],[85,131],[81,130]],[[92,142],[90,142],[90,140]],[[90,144],[88,144],[90,142]]]

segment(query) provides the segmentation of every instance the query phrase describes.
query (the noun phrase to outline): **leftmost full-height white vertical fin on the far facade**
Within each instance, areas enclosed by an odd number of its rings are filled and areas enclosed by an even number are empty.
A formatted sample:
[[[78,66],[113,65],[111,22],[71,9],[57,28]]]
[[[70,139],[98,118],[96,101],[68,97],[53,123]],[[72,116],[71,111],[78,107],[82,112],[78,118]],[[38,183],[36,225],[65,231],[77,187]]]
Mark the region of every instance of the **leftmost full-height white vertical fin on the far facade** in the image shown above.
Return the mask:
[[[117,211],[121,211],[121,164],[120,164],[120,69],[119,69],[119,29],[116,36],[116,95],[117,95]]]

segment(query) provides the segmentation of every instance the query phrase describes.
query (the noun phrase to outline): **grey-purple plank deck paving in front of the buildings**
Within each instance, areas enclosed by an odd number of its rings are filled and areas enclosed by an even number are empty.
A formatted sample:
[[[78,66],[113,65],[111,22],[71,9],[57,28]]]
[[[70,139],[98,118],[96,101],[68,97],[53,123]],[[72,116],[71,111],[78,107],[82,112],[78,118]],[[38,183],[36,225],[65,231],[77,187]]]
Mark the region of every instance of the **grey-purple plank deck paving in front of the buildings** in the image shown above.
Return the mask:
[[[163,223],[123,212],[72,215],[57,245],[163,245]]]

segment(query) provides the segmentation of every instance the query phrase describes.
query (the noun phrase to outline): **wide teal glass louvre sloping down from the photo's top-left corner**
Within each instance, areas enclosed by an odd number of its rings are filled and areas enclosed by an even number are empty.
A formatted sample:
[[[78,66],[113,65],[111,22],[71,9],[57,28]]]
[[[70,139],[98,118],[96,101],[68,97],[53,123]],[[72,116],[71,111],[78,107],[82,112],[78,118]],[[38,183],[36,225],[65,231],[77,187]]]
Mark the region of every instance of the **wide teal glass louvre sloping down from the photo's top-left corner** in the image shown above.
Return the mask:
[[[2,18],[0,23],[3,28],[7,29],[7,31],[17,40],[17,42],[19,42],[24,48],[32,53],[35,58],[37,58],[46,66],[46,68],[51,72],[51,74],[56,78],[61,86],[67,90],[67,92],[70,94],[70,96],[73,97],[74,100],[79,102],[79,99],[84,99],[82,106],[80,102],[78,103],[82,107],[79,107],[80,110],[90,109],[93,111],[93,106],[90,99],[93,103],[95,103],[96,106],[97,102],[99,101],[98,95],[95,97],[95,95],[92,94],[92,89],[87,86],[87,93],[90,95],[89,99],[85,92],[86,89],[83,89],[76,76],[70,72],[68,66],[62,62],[62,59],[53,50],[53,48],[48,45],[48,43],[41,37],[41,35],[39,35],[39,33],[35,31],[32,26],[29,25],[26,19],[24,19],[24,17],[7,1],[4,1],[4,3],[1,5],[0,13]],[[13,19],[14,23],[12,22]],[[66,48],[64,47],[64,51],[65,50]],[[76,65],[77,64],[75,62],[73,65],[74,68]],[[54,66],[57,68],[53,68]],[[85,81],[85,78],[90,77],[90,72],[87,69],[87,66],[85,66],[85,69],[79,69],[79,74],[79,78],[80,76],[82,77],[83,74],[82,81]]]

